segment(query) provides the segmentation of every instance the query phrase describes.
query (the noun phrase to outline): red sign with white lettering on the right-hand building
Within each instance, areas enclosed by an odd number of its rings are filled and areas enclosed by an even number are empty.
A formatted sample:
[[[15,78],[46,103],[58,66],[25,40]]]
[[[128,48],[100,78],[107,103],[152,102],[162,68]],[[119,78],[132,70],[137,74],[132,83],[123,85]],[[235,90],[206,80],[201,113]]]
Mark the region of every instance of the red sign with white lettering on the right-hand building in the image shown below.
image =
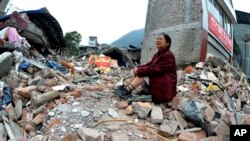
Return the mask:
[[[226,48],[232,53],[233,52],[233,42],[227,32],[221,27],[220,23],[216,18],[208,13],[208,26],[209,30],[226,46]]]

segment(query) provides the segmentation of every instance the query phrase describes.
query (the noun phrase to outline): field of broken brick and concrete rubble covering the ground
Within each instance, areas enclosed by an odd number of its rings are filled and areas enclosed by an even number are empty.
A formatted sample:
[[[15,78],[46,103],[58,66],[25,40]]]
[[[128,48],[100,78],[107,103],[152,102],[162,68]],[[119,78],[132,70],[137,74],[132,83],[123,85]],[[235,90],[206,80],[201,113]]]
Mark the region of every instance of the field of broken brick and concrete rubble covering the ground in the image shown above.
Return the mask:
[[[100,71],[90,56],[20,58],[0,55],[1,140],[219,141],[230,125],[249,124],[244,74],[216,57],[178,70],[177,96],[160,105],[114,95],[129,68]]]

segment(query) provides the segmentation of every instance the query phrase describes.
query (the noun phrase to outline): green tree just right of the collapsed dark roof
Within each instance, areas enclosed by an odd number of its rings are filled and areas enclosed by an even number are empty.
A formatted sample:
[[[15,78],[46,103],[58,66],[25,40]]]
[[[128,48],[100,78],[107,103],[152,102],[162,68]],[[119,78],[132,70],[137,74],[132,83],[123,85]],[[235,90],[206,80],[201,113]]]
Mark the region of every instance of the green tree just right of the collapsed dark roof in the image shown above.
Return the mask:
[[[79,54],[79,45],[82,40],[82,36],[77,31],[67,32],[64,36],[64,42],[66,45],[66,52],[68,56],[74,56]]]

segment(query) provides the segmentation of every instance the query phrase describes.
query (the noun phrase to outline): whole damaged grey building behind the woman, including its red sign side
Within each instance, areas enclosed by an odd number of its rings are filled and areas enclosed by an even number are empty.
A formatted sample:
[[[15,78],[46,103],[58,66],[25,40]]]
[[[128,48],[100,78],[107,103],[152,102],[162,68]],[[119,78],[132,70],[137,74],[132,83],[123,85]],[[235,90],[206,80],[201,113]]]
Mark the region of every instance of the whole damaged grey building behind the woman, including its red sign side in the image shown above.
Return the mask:
[[[149,0],[141,62],[149,61],[161,32],[172,38],[178,65],[205,61],[209,54],[228,62],[233,54],[231,0]]]

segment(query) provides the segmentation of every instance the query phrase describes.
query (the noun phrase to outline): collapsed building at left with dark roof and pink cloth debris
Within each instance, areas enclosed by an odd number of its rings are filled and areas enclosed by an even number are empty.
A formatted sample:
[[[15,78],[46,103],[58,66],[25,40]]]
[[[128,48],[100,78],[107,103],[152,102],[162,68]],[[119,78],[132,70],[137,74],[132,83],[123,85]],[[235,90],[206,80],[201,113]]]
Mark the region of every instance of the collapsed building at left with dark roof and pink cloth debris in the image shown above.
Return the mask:
[[[13,12],[1,16],[0,22],[0,53],[17,50],[25,57],[45,59],[44,56],[55,54],[54,51],[65,46],[62,29],[46,8]],[[1,66],[4,67],[2,75],[10,70],[8,65]]]

